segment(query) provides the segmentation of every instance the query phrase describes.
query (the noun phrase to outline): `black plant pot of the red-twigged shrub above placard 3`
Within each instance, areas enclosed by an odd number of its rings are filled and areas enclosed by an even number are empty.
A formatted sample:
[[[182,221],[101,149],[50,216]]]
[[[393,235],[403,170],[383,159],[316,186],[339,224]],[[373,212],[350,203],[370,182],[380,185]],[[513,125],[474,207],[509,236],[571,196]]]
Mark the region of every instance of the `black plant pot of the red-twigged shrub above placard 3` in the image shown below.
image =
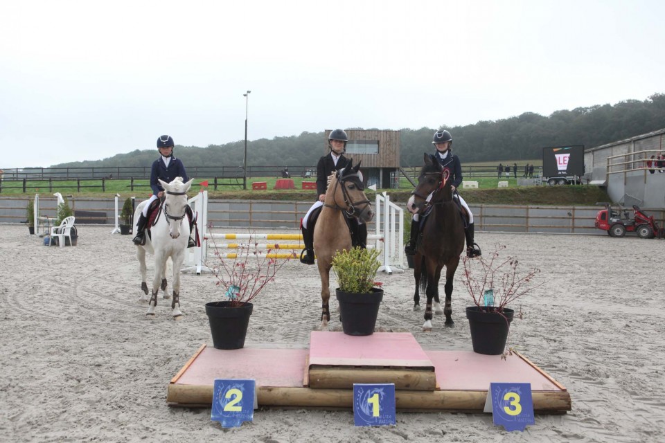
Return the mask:
[[[513,309],[504,308],[503,313],[499,314],[493,306],[466,308],[473,352],[486,355],[503,354],[514,313]]]

